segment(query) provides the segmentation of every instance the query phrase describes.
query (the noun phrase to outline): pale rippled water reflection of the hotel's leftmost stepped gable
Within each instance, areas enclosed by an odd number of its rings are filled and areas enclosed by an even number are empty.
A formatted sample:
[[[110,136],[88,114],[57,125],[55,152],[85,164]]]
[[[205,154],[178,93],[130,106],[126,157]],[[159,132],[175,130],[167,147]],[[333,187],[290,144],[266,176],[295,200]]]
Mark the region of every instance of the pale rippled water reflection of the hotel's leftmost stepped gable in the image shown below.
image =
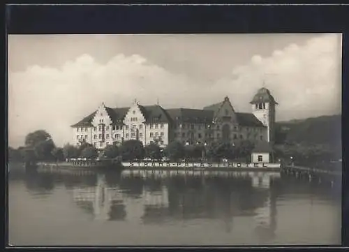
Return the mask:
[[[85,209],[87,208],[96,219],[124,219],[126,212],[119,188],[108,187],[105,182],[105,175],[97,176],[96,186],[74,188],[74,201]]]

